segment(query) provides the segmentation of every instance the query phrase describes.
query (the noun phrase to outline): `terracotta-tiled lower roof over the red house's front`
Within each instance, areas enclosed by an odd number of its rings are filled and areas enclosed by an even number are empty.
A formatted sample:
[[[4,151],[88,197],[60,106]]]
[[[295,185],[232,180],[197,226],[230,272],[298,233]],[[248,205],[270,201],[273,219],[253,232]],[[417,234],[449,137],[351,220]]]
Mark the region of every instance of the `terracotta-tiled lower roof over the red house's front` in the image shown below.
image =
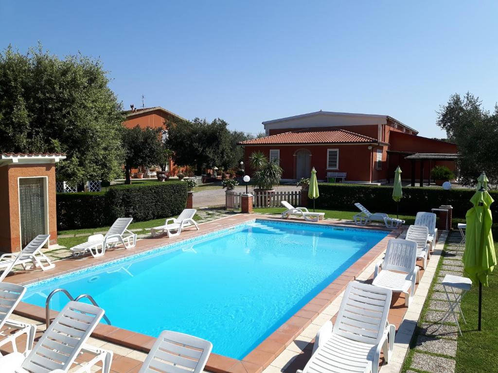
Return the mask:
[[[337,129],[331,131],[294,131],[246,140],[239,145],[281,145],[281,144],[383,144],[373,137]]]

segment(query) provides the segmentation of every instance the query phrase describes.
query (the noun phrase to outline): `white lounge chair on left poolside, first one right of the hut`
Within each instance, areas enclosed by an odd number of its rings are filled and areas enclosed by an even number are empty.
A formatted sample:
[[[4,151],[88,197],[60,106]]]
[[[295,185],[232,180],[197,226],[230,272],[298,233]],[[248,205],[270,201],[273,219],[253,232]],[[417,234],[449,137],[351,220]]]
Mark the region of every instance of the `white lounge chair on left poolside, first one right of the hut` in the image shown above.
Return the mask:
[[[87,242],[76,245],[69,250],[73,256],[77,257],[90,252],[94,258],[101,257],[106,253],[106,249],[123,244],[124,248],[131,249],[136,245],[136,234],[128,230],[133,218],[117,219],[106,235],[94,234],[88,237]]]

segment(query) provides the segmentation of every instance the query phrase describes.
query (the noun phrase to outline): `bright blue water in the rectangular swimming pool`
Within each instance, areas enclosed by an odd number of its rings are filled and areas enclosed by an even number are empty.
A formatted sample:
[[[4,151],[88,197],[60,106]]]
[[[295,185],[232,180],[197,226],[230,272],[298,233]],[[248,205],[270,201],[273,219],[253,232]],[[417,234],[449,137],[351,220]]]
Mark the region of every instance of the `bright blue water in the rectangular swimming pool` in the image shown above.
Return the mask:
[[[57,287],[88,293],[112,325],[192,334],[242,359],[386,235],[256,220],[34,283],[24,301],[44,306]],[[56,294],[51,308],[66,302]]]

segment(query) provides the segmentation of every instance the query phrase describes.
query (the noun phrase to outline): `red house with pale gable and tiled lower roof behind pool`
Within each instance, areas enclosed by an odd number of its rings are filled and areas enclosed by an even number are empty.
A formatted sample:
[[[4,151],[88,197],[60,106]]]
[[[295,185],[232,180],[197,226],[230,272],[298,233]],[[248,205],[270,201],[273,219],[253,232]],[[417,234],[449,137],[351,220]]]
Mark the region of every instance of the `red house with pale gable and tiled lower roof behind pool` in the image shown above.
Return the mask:
[[[319,180],[340,172],[346,173],[347,183],[384,183],[399,165],[403,179],[414,185],[417,178],[422,185],[434,166],[456,168],[456,144],[418,136],[388,115],[320,110],[262,124],[265,137],[239,145],[245,148],[247,165],[255,151],[277,159],[282,179],[308,178],[315,167]]]

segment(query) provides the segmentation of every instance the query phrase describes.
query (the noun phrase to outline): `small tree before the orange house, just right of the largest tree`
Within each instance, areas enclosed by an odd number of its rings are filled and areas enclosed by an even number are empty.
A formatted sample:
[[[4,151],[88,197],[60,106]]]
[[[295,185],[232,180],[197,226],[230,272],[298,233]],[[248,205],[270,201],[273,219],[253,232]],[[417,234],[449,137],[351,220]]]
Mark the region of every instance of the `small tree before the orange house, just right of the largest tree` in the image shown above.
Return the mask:
[[[162,161],[163,143],[160,140],[162,128],[141,129],[138,125],[123,129],[124,184],[131,184],[130,172],[134,167],[149,167]]]

